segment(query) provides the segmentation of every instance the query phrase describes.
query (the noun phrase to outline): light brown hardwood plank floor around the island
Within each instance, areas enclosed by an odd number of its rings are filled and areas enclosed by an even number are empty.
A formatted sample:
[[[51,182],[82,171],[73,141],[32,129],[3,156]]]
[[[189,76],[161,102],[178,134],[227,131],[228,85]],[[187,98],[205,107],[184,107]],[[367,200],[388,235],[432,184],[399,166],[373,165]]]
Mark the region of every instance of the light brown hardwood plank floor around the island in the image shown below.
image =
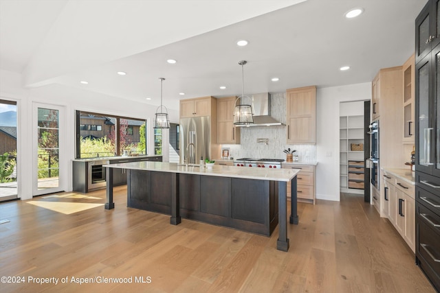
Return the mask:
[[[0,277],[24,277],[1,292],[434,292],[363,196],[298,203],[284,253],[278,228],[264,237],[190,220],[173,226],[168,215],[126,208],[124,187],[111,211],[100,205],[104,191],[59,195],[0,204],[0,220],[10,220],[0,224]]]

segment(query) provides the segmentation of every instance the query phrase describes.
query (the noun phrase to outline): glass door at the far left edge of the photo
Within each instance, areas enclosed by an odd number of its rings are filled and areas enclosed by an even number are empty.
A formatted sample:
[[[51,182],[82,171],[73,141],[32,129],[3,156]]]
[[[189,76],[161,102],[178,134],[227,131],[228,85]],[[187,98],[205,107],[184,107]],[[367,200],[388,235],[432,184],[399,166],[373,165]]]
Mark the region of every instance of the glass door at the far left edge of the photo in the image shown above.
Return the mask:
[[[0,202],[18,197],[17,102],[0,99]]]

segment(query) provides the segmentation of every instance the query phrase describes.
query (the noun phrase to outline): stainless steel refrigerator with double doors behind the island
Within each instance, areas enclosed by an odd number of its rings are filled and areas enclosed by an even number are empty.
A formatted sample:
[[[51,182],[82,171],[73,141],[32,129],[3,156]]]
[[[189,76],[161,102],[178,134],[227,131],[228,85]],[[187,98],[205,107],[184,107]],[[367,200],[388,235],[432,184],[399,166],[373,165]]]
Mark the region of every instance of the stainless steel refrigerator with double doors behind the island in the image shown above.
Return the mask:
[[[199,163],[201,157],[212,159],[210,117],[181,118],[179,135],[181,164]]]

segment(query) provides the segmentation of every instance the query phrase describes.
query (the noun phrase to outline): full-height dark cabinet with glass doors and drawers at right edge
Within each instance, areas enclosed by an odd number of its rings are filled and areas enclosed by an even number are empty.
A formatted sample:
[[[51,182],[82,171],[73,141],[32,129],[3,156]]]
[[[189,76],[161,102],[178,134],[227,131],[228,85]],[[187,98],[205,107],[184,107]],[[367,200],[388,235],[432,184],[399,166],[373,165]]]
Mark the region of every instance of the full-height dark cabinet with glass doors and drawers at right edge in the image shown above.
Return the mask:
[[[440,290],[440,0],[416,19],[416,263]],[[438,21],[437,21],[438,20]]]

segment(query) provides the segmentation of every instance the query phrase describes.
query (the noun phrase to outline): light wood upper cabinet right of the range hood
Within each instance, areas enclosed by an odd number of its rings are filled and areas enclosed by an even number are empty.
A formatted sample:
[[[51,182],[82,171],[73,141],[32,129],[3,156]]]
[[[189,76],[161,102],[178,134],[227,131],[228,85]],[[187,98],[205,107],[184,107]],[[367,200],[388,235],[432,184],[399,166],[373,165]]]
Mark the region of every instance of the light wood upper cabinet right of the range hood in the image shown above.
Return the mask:
[[[316,143],[316,86],[288,89],[287,143]]]

